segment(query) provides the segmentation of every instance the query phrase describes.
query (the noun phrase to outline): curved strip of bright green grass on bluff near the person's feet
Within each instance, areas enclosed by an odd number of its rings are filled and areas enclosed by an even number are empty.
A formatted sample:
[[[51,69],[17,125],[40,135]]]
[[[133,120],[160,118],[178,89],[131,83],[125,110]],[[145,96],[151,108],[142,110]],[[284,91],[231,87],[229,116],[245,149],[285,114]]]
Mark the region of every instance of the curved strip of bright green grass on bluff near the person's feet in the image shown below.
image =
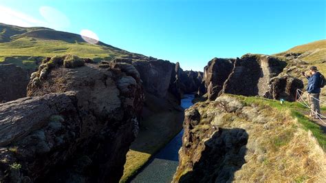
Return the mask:
[[[312,134],[317,139],[320,147],[326,151],[326,134],[323,133],[322,129],[320,129],[319,125],[309,120],[304,114],[303,111],[307,111],[307,108],[303,107],[300,103],[289,103],[285,102],[281,104],[278,100],[270,100],[266,98],[258,98],[258,97],[245,97],[245,96],[237,96],[241,99],[241,101],[245,105],[261,105],[261,106],[270,106],[278,109],[279,111],[290,110],[291,116],[296,118],[298,122],[302,125],[303,129],[306,131],[312,131]],[[326,111],[326,107],[321,108],[322,111]],[[276,146],[277,144],[282,144],[283,142],[279,142],[275,140]]]

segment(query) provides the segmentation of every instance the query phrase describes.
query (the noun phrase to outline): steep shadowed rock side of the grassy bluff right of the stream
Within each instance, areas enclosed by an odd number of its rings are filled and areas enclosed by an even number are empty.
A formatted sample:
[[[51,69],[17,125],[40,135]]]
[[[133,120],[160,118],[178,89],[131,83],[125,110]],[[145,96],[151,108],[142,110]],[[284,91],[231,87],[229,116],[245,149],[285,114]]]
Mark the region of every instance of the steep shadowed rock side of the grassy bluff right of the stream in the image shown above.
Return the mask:
[[[206,118],[234,112],[237,107],[221,109],[215,105],[215,113],[210,114],[196,106],[186,110],[180,163],[173,182],[232,182],[235,171],[245,163],[248,133],[239,128],[224,129]]]

